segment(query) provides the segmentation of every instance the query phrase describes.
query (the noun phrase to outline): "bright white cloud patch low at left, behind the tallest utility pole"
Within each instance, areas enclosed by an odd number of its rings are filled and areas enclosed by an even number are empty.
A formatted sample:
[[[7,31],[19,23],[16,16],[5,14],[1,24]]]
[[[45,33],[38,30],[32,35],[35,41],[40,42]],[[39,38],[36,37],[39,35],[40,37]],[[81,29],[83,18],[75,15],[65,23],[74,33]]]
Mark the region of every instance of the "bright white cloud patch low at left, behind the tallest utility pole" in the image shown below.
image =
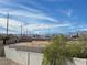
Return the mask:
[[[0,18],[0,26],[7,28],[7,19]],[[20,31],[21,22],[9,19],[9,30]]]

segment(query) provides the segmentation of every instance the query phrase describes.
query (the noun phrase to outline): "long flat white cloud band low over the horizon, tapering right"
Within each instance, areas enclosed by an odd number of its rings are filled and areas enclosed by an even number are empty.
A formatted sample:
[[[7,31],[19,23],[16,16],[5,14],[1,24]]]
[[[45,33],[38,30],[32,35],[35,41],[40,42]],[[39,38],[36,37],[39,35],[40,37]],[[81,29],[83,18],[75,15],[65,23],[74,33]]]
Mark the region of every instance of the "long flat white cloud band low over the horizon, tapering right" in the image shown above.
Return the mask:
[[[54,28],[65,28],[69,26],[70,24],[28,24],[24,29],[29,29],[29,31],[34,30],[43,30],[43,29],[54,29]]]

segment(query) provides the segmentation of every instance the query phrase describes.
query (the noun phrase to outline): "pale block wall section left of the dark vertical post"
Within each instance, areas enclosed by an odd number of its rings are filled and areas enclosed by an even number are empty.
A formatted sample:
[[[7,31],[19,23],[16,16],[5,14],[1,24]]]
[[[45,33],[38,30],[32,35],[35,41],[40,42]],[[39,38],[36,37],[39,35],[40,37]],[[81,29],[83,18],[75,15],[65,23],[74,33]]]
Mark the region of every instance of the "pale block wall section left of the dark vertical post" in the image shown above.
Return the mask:
[[[4,47],[6,57],[19,64],[28,65],[28,52],[17,51],[15,48]]]

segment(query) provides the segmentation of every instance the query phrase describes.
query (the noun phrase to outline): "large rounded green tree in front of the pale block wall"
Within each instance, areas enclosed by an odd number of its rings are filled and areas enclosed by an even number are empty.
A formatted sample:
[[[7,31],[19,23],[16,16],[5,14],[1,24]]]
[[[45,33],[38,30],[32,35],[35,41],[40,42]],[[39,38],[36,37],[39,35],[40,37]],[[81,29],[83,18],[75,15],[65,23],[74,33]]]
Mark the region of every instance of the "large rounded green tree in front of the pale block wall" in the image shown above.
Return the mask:
[[[66,47],[67,37],[64,35],[55,36],[51,45],[44,50],[43,65],[67,65],[73,63],[69,50]]]

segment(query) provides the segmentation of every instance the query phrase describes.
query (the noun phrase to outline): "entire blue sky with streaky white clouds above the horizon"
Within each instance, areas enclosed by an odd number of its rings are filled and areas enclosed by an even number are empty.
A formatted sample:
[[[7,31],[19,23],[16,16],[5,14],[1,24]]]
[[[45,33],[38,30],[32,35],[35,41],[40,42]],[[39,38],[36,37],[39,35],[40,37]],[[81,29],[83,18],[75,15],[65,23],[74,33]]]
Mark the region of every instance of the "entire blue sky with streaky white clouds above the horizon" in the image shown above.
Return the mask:
[[[87,31],[87,0],[0,0],[0,33],[68,33]]]

